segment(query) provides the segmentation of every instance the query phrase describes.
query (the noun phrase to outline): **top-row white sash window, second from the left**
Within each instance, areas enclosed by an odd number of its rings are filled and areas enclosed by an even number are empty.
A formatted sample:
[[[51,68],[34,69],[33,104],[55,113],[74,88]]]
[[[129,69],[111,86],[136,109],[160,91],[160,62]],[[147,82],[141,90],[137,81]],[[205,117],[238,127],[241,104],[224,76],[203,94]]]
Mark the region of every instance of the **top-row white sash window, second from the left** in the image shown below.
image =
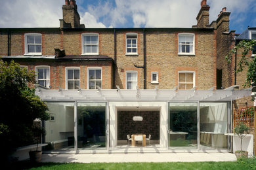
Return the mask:
[[[82,54],[98,55],[98,33],[82,34]]]

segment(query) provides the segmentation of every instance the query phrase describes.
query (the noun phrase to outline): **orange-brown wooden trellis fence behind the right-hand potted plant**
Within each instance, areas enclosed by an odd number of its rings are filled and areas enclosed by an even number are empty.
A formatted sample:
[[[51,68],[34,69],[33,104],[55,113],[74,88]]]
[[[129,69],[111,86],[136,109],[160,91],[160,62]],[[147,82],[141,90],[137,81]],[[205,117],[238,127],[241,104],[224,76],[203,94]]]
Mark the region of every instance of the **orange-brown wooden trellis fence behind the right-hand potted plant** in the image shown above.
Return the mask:
[[[256,107],[246,107],[242,109],[234,109],[233,110],[233,133],[234,133],[234,127],[236,127],[239,122],[243,122],[245,125],[247,125],[250,129],[250,133],[254,135],[253,137],[253,149],[254,154],[256,153],[256,131],[255,131],[255,125],[256,125]]]

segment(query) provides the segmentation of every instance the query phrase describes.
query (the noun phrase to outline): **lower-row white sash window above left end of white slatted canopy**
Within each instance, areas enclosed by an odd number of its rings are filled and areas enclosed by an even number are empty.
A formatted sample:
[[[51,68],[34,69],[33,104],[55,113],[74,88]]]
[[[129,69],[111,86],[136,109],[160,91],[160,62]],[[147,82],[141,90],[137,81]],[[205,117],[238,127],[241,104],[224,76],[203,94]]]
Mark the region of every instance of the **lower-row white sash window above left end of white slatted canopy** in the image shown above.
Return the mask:
[[[37,84],[49,88],[50,86],[50,67],[48,65],[35,66],[35,77]]]

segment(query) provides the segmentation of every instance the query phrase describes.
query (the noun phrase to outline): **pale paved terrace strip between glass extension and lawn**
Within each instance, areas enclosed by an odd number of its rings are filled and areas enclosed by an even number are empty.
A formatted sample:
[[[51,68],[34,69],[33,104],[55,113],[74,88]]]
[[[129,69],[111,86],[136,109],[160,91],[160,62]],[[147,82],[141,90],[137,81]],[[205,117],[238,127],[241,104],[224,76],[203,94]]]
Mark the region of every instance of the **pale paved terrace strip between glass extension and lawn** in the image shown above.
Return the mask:
[[[58,163],[236,161],[236,156],[228,152],[143,154],[43,154],[41,161]]]

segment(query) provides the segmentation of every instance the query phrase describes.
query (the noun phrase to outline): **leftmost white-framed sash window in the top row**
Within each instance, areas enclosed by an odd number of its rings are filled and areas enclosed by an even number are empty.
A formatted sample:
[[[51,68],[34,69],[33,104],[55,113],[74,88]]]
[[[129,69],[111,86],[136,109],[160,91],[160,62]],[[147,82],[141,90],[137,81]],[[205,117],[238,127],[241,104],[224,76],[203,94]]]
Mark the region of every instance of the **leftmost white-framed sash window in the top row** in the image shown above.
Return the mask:
[[[26,33],[24,39],[25,55],[42,55],[41,33]]]

